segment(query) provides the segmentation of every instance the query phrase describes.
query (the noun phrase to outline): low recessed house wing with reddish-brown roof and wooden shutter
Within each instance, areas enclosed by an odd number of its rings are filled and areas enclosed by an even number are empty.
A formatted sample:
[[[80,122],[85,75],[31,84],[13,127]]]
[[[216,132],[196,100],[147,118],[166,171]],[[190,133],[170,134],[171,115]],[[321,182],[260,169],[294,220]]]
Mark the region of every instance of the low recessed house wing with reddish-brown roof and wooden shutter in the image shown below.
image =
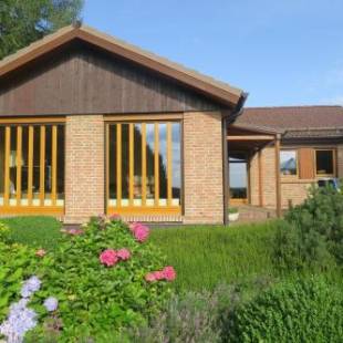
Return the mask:
[[[281,210],[343,177],[343,107],[246,108],[228,126],[230,204]]]

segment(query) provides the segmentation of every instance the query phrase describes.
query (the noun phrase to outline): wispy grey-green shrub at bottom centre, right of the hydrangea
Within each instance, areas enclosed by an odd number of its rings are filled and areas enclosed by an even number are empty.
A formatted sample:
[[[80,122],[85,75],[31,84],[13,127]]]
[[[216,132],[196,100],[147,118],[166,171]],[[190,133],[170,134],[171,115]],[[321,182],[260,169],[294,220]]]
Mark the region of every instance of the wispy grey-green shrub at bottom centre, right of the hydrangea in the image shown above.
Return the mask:
[[[174,295],[164,311],[131,333],[132,342],[221,342],[222,313],[237,301],[235,288]]]

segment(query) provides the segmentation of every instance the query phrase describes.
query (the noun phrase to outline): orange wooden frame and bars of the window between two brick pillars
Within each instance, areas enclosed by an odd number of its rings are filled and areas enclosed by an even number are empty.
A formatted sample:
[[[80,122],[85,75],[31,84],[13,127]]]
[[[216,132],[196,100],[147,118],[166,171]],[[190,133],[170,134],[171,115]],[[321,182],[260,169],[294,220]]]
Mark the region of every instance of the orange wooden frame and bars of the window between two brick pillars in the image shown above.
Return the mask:
[[[181,114],[155,114],[155,115],[108,115],[104,117],[105,122],[105,132],[106,132],[106,185],[105,185],[105,204],[106,204],[106,211],[108,215],[113,214],[119,214],[119,215],[181,215],[184,212],[184,128],[183,128],[183,115]],[[173,205],[173,154],[170,154],[170,150],[173,152],[173,124],[178,123],[179,124],[179,148],[180,148],[180,166],[179,166],[179,173],[180,173],[180,194],[179,194],[179,204]],[[154,194],[154,199],[155,204],[154,205],[147,205],[147,198],[146,198],[146,186],[142,186],[142,205],[134,205],[132,201],[132,188],[133,184],[132,180],[129,180],[129,189],[128,189],[128,206],[123,206],[122,204],[118,204],[118,198],[122,200],[118,195],[116,195],[116,204],[111,205],[111,198],[110,198],[110,126],[111,125],[117,125],[117,124],[128,124],[128,129],[131,131],[129,127],[132,127],[129,124],[133,126],[135,124],[141,124],[142,129],[144,132],[142,139],[145,139],[146,142],[146,125],[147,124],[153,124],[154,125],[154,146],[156,145],[157,147],[159,146],[159,125],[155,124],[167,124],[167,133],[166,133],[166,139],[167,142],[172,144],[170,148],[167,147],[167,158],[169,159],[172,157],[172,165],[167,163],[167,183],[172,186],[167,186],[167,198],[166,198],[166,205],[160,205],[160,195],[159,195],[159,172],[157,172],[158,175],[158,185],[156,185],[157,191]],[[143,125],[145,124],[145,125]],[[170,124],[170,125],[168,125]],[[116,126],[117,127],[117,126]],[[169,127],[169,128],[168,128]],[[169,132],[169,133],[168,133]],[[156,136],[157,135],[157,136]],[[170,135],[168,137],[168,135]],[[156,139],[158,137],[158,139]],[[131,138],[128,137],[128,141]],[[158,141],[158,142],[156,142]],[[143,142],[143,141],[142,141]],[[157,143],[157,144],[156,144]],[[133,144],[133,143],[129,143]],[[122,145],[122,144],[121,144]],[[143,144],[142,144],[143,145]],[[146,146],[143,147],[141,146],[141,152],[146,152]],[[154,150],[155,152],[155,150]],[[135,155],[135,152],[129,152],[129,159]],[[117,156],[116,156],[117,158]],[[154,153],[154,176],[156,177],[156,168],[158,169],[158,160],[160,156],[158,154],[158,159],[156,160],[155,158],[155,153]],[[147,159],[142,157],[142,168],[145,167],[147,168]],[[119,167],[119,169],[122,166]],[[170,170],[169,170],[170,168]],[[132,179],[132,173],[133,168],[129,166],[129,179]],[[144,185],[144,175],[145,179],[147,177],[146,173],[143,174],[142,170],[142,185]],[[169,177],[172,176],[170,180],[168,181]],[[117,178],[117,172],[116,176]],[[117,179],[118,180],[118,179]],[[122,178],[119,180],[119,184],[122,183]],[[121,190],[119,190],[121,191]],[[158,194],[158,198],[156,198],[156,194]],[[172,199],[170,199],[172,197]],[[133,198],[134,199],[134,198]]]

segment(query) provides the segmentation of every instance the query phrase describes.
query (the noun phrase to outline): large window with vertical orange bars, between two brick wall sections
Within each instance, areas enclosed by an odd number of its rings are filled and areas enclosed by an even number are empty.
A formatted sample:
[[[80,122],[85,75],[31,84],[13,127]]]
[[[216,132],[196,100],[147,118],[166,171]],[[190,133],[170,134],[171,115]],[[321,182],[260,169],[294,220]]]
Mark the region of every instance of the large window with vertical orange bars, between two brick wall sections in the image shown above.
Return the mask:
[[[180,123],[111,123],[107,132],[110,212],[178,211]]]

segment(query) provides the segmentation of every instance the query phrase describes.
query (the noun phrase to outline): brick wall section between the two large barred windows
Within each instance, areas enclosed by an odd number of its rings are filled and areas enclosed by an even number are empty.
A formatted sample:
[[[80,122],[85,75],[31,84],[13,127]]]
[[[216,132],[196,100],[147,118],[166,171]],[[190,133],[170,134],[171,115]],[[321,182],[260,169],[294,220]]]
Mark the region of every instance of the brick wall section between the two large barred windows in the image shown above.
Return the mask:
[[[104,212],[105,132],[102,115],[67,116],[65,123],[65,218],[83,222]]]

